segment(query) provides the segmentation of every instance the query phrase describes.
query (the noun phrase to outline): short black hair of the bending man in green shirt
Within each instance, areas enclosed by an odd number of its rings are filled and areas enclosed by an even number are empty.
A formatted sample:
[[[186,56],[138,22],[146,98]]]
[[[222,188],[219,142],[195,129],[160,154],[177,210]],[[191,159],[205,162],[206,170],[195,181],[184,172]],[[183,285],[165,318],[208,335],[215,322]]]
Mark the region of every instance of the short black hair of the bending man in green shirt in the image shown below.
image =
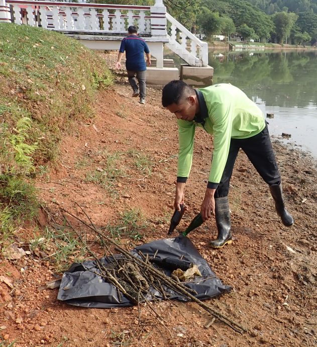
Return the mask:
[[[178,105],[184,98],[195,94],[195,90],[182,80],[175,79],[164,85],[162,91],[162,105],[167,107]]]

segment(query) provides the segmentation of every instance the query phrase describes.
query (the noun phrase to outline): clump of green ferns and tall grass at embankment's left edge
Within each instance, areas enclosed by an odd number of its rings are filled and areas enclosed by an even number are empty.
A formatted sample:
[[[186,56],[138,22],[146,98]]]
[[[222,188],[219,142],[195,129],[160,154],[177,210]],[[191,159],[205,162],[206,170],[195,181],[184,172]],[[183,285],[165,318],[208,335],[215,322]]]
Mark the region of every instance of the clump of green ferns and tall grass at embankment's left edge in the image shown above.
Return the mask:
[[[32,154],[37,144],[28,144],[32,120],[22,117],[16,127],[0,125],[0,223],[3,239],[24,220],[37,213],[35,189],[27,179],[34,170]],[[1,244],[1,238],[0,238]]]

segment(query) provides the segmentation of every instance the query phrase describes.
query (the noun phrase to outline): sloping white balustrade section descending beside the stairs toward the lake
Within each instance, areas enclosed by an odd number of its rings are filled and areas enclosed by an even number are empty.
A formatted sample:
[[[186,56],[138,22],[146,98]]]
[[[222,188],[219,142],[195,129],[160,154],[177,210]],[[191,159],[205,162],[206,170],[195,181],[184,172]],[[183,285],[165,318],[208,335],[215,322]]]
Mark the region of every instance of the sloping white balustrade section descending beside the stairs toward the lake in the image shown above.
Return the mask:
[[[170,40],[167,46],[191,66],[208,66],[208,44],[199,40],[168,13],[166,19],[170,23]]]

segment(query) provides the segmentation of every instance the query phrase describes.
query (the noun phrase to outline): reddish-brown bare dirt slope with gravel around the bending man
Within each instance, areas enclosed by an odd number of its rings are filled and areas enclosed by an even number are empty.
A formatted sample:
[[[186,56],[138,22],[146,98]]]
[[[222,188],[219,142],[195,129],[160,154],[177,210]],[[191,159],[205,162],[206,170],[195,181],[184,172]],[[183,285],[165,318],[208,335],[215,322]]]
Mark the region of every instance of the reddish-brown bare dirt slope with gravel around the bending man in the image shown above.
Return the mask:
[[[140,208],[149,222],[143,239],[148,242],[166,237],[167,219],[173,212],[177,126],[173,115],[160,106],[159,90],[149,88],[146,105],[130,96],[126,82],[100,93],[93,123],[78,124],[75,136],[64,138],[60,160],[37,187],[56,221],[61,220],[58,207],[84,218],[74,201],[97,226],[108,224],[122,211]],[[190,212],[179,230],[199,210],[212,148],[210,136],[198,129],[186,189]],[[248,326],[250,334],[241,335],[217,321],[204,328],[210,317],[192,303],[156,303],[164,326],[153,321],[145,327],[138,326],[136,308],[86,309],[63,304],[56,299],[57,289],[40,290],[54,279],[54,268],[47,259],[31,254],[0,263],[0,276],[10,273],[15,288],[0,282],[0,325],[6,327],[2,336],[15,339],[21,347],[315,345],[316,170],[304,153],[277,143],[275,149],[295,226],[286,228],[280,223],[266,185],[240,153],[230,192],[233,245],[220,250],[208,247],[217,233],[214,220],[189,235],[223,283],[233,286],[230,294],[210,304]],[[105,153],[115,152],[121,153],[117,169],[124,174],[112,188],[87,182],[87,174],[104,165]],[[149,155],[151,175],[133,164],[133,153]],[[41,224],[46,221],[51,220],[43,214]],[[131,239],[122,241],[128,247],[135,245]],[[144,319],[149,315],[144,308],[141,312]]]

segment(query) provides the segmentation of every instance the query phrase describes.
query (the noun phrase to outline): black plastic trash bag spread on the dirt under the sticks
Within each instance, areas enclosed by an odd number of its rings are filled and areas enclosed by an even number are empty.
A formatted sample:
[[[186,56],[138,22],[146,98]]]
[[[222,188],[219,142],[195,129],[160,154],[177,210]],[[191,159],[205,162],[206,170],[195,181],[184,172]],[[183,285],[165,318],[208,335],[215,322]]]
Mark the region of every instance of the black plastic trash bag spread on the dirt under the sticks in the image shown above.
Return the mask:
[[[196,276],[192,281],[185,283],[185,286],[197,292],[195,295],[197,299],[204,300],[230,292],[231,287],[222,284],[189,238],[178,236],[156,240],[136,247],[131,251],[131,254],[140,257],[137,251],[141,251],[143,254],[148,253],[149,256],[153,256],[157,250],[156,256],[161,258],[179,259],[183,256],[183,260],[197,265],[202,276]],[[121,254],[118,255],[121,256]],[[107,257],[101,258],[100,261],[105,266],[109,264]],[[87,261],[83,264],[74,263],[63,275],[57,299],[83,307],[132,306],[132,303],[124,295],[122,295],[120,302],[116,287],[106,282],[98,273],[99,269],[96,267],[95,261]],[[170,276],[171,271],[164,269],[164,273]],[[188,301],[185,296],[170,288],[164,287],[164,290],[169,295],[169,299]],[[154,288],[150,288],[149,292],[156,298],[163,299]],[[151,300],[153,297],[149,295],[148,299]]]

